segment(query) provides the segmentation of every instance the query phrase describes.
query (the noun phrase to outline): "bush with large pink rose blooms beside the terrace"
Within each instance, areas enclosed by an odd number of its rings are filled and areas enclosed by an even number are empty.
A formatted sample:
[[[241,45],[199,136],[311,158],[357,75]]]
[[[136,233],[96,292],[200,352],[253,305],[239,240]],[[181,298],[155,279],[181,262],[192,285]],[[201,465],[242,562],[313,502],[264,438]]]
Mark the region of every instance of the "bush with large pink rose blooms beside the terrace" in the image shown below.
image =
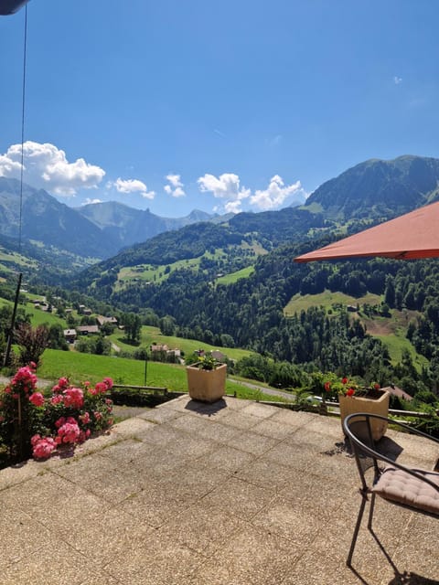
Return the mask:
[[[64,446],[74,448],[92,433],[112,425],[112,379],[81,388],[59,378],[50,390],[37,391],[35,365],[20,367],[10,383],[0,390],[0,448],[9,460],[29,456],[43,460]]]

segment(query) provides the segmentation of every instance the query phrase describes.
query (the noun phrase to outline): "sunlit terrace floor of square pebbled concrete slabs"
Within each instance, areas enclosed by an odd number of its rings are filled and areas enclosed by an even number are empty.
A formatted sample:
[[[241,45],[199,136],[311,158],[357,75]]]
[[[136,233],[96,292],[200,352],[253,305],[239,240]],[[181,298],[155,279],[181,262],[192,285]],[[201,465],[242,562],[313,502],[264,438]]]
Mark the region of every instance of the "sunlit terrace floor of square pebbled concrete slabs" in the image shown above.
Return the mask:
[[[388,432],[433,468],[428,441]],[[339,420],[182,397],[73,457],[0,472],[1,585],[439,583],[439,523],[377,501],[354,566],[355,461]]]

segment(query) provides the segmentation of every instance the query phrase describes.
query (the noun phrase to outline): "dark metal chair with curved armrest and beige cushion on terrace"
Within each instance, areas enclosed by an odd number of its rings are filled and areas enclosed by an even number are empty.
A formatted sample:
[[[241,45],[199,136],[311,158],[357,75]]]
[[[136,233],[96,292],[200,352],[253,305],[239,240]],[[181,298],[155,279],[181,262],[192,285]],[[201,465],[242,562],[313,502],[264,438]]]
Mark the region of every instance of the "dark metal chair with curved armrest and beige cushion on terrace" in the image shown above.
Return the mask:
[[[380,495],[390,504],[400,505],[413,512],[439,518],[439,473],[420,468],[409,468],[394,461],[391,452],[385,451],[386,442],[389,446],[389,440],[386,441],[386,438],[383,437],[378,443],[373,441],[370,425],[372,419],[388,420],[389,424],[396,430],[410,432],[439,444],[438,439],[422,431],[380,415],[360,412],[351,414],[344,420],[343,430],[350,441],[361,479],[361,487],[359,488],[361,505],[346,563],[348,567],[351,567],[352,555],[369,495],[368,528],[373,536],[372,516],[376,495]],[[371,477],[369,477],[369,473],[366,473],[368,469],[373,470]]]

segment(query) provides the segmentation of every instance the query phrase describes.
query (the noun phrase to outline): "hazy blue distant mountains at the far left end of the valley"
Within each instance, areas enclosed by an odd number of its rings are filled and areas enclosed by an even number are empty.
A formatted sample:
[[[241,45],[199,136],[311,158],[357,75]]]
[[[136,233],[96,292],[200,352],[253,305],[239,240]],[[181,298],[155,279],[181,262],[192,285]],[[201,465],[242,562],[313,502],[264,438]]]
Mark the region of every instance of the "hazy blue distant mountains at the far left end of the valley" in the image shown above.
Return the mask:
[[[16,179],[0,177],[0,235],[18,239],[20,215],[22,239],[101,260],[164,231],[230,217],[195,209],[185,218],[161,218],[114,201],[73,208],[44,189],[26,184],[21,189]]]

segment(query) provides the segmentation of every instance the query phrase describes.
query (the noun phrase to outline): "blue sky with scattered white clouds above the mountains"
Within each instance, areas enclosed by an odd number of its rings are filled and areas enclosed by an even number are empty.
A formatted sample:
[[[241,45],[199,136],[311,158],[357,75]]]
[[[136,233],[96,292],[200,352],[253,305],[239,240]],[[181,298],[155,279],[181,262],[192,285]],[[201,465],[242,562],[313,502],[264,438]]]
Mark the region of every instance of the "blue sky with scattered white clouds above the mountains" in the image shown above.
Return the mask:
[[[0,16],[0,176],[20,170],[24,19]],[[438,21],[434,0],[30,0],[24,180],[181,217],[439,157]]]

